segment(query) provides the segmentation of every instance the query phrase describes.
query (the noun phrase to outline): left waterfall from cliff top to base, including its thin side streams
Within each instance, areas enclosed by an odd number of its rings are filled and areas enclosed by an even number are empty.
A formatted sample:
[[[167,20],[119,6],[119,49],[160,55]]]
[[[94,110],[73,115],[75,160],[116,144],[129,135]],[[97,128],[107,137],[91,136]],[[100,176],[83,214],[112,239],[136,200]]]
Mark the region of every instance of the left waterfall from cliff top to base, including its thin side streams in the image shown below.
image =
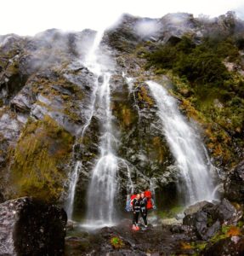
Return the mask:
[[[115,223],[116,211],[114,206],[116,192],[118,190],[117,172],[118,166],[125,166],[128,171],[128,191],[133,192],[133,182],[130,177],[130,168],[126,160],[116,156],[116,132],[112,125],[111,113],[111,71],[105,63],[101,63],[104,55],[99,50],[103,32],[98,32],[92,48],[90,49],[83,65],[94,73],[94,88],[90,99],[90,107],[85,124],[79,131],[80,137],[85,135],[94,115],[99,118],[99,159],[92,171],[92,178],[88,189],[88,212],[86,224],[89,228],[98,228]],[[74,171],[71,173],[70,189],[68,196],[67,212],[72,217],[74,197],[82,161],[77,161]]]

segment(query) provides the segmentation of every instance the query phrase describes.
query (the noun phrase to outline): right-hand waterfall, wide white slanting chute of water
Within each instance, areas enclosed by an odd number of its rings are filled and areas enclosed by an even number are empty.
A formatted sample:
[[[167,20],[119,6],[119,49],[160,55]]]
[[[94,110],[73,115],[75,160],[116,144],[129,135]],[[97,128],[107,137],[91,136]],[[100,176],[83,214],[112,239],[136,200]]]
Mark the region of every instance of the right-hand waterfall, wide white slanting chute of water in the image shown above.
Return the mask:
[[[195,129],[179,112],[178,105],[167,90],[153,81],[147,82],[156,101],[157,115],[162,121],[163,134],[176,160],[182,179],[179,189],[185,196],[185,204],[213,199],[213,183],[202,143]]]

